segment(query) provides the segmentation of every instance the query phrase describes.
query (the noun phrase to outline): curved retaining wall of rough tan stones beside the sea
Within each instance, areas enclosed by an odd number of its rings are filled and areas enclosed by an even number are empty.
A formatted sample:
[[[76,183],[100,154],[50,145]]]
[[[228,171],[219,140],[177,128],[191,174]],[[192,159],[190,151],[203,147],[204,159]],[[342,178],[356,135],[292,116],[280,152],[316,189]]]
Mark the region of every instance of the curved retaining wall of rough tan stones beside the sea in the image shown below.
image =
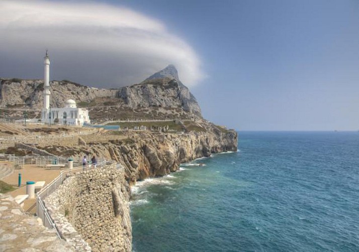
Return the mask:
[[[77,250],[131,251],[130,190],[115,165],[78,172],[45,199],[61,235]],[[82,238],[81,238],[82,237]]]

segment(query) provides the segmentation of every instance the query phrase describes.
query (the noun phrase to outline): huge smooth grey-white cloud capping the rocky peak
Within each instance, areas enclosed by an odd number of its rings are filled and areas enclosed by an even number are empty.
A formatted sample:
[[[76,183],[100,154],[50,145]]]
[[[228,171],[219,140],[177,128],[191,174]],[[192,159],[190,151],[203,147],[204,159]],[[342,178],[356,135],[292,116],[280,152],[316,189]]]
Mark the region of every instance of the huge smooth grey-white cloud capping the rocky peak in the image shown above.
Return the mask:
[[[97,87],[141,82],[176,66],[188,86],[202,78],[200,60],[153,18],[96,3],[0,2],[0,77],[41,78],[46,48],[51,79]]]

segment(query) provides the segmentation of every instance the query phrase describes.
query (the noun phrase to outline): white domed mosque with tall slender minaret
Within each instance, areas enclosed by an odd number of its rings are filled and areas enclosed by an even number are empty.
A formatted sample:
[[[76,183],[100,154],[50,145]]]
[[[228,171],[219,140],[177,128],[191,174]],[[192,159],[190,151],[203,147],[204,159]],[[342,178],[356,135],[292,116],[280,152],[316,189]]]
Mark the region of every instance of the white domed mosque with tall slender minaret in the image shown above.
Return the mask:
[[[49,124],[64,124],[82,126],[84,122],[89,123],[88,110],[77,108],[76,102],[69,99],[63,108],[50,108],[50,58],[47,54],[45,59],[45,85],[44,85],[44,107],[41,112],[41,121]]]

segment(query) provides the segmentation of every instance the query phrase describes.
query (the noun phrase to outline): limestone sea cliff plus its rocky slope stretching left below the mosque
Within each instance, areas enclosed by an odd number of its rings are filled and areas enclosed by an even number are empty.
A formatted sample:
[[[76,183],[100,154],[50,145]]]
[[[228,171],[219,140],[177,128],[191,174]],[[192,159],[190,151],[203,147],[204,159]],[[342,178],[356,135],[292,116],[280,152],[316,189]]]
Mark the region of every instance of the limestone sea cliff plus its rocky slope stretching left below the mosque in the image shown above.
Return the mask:
[[[204,123],[202,123],[204,125]],[[120,162],[125,167],[129,182],[146,177],[163,176],[178,169],[180,163],[196,158],[208,157],[212,153],[236,151],[238,136],[235,131],[224,130],[212,123],[203,126],[204,131],[188,133],[123,132],[122,136],[88,136],[86,145],[45,146],[44,149],[56,155],[76,156],[95,154]],[[111,140],[112,139],[112,140]],[[104,140],[104,141],[103,141]]]

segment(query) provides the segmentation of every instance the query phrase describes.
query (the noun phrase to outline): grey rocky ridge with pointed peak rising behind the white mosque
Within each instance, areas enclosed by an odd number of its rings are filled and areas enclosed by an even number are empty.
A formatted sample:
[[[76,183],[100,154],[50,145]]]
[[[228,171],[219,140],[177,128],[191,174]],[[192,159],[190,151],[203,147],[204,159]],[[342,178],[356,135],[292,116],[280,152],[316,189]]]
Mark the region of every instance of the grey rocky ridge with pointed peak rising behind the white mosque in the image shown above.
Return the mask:
[[[0,78],[0,108],[41,109],[43,104],[43,80],[20,80]],[[112,116],[121,115],[123,109],[159,108],[180,109],[185,113],[201,117],[196,98],[178,79],[177,70],[168,66],[140,84],[119,89],[99,89],[70,81],[50,82],[50,107],[63,107],[67,99],[78,106],[92,107],[90,117],[96,117],[99,106],[118,106]],[[95,118],[96,119],[96,118]]]

